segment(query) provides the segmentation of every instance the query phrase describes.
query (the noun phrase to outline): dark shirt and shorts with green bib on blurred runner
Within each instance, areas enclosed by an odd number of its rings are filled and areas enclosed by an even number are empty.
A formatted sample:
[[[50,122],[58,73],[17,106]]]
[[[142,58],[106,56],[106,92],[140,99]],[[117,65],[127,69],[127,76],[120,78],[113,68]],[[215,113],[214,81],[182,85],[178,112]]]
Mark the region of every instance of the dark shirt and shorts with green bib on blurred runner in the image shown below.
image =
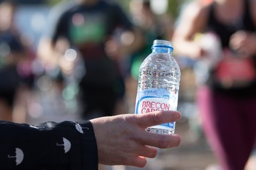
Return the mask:
[[[93,118],[88,114],[95,112],[112,115],[116,102],[124,97],[125,88],[118,61],[106,54],[105,43],[109,37],[131,30],[131,22],[117,4],[100,0],[93,6],[65,6],[55,24],[49,34],[52,44],[58,38],[67,38],[84,61],[85,74],[79,84],[83,116],[87,120]]]

